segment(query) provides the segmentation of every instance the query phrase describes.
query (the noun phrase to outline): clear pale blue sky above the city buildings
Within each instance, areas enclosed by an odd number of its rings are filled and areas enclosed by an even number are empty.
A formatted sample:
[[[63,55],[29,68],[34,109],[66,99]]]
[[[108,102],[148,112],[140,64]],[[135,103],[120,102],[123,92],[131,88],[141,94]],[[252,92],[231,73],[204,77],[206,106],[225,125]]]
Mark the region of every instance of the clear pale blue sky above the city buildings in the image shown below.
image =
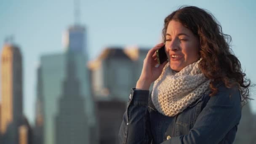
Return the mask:
[[[63,32],[74,24],[73,0],[1,0],[0,45],[14,35],[24,59],[24,114],[35,115],[36,68],[40,56],[64,51]],[[163,20],[180,5],[205,8],[232,36],[232,49],[248,78],[256,83],[256,10],[253,0],[81,0],[80,24],[85,25],[90,60],[109,45],[153,47],[160,41]],[[2,46],[1,46],[2,47]],[[2,48],[1,48],[2,50]],[[254,88],[255,91],[255,88]],[[256,99],[256,92],[254,98]],[[256,112],[256,100],[251,102]]]

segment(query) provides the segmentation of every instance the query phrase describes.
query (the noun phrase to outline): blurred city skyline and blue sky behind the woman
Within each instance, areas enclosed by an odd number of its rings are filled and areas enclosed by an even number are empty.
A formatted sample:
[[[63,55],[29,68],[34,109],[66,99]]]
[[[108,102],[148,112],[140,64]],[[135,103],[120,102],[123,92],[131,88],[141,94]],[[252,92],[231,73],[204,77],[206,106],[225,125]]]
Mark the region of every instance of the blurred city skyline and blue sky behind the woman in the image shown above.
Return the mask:
[[[253,0],[1,0],[0,144],[117,144],[147,51],[181,5],[209,10],[256,83]],[[255,88],[251,98],[255,97]],[[256,100],[235,144],[256,144]]]

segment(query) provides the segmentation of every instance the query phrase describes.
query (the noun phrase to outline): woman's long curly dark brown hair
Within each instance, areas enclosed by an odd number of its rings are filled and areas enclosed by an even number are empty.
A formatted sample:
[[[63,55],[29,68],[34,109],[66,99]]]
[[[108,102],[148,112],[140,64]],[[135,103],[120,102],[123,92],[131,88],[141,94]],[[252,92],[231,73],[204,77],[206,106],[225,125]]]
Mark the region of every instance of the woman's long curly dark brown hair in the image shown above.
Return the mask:
[[[190,29],[200,40],[199,68],[205,77],[211,80],[210,96],[218,92],[216,84],[223,82],[227,88],[237,85],[243,101],[250,99],[249,87],[251,80],[245,78],[241,63],[233,54],[230,35],[222,32],[221,25],[207,10],[195,6],[182,6],[168,15],[164,20],[163,41],[166,41],[166,31],[171,20],[179,21]]]

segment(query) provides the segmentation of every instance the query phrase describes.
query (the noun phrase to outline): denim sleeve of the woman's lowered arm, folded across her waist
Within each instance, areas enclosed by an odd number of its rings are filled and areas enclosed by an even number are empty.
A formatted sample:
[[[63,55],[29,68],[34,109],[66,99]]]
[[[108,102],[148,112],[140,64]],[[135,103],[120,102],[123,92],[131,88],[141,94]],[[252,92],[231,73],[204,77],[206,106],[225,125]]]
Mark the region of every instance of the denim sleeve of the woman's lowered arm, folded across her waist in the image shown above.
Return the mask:
[[[221,86],[211,96],[205,108],[197,117],[188,135],[172,137],[162,144],[218,144],[234,128],[241,118],[241,99],[237,88]],[[229,143],[232,143],[229,141]]]

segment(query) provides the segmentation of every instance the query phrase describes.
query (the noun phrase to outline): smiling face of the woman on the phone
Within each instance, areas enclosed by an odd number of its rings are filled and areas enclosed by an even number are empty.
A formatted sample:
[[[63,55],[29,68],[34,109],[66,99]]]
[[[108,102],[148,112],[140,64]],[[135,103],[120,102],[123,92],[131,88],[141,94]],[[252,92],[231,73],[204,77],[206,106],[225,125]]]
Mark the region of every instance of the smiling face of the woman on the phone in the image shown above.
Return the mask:
[[[167,27],[165,50],[170,67],[176,72],[199,60],[199,39],[180,22],[171,20]]]

